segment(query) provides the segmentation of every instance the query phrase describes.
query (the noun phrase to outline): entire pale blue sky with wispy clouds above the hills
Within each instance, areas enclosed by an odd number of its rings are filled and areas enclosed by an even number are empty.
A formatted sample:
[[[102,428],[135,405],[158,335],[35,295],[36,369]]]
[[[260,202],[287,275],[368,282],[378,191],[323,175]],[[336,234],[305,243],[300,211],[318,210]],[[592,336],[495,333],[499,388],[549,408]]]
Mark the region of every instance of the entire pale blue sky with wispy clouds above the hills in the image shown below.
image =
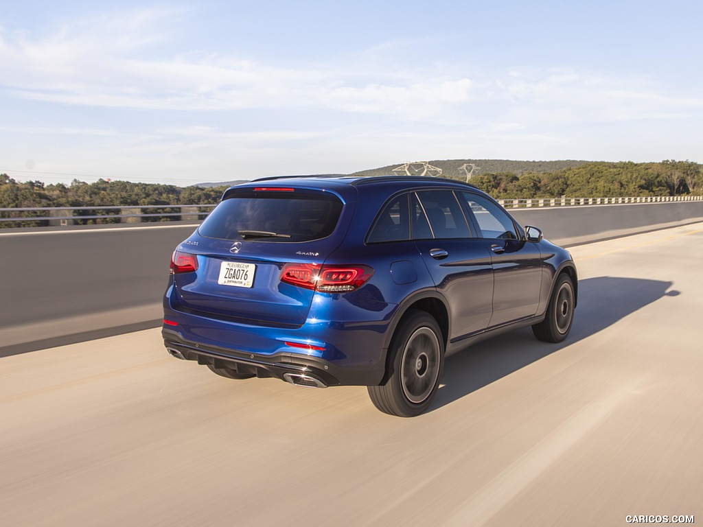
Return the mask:
[[[695,1],[4,1],[0,173],[703,162]]]

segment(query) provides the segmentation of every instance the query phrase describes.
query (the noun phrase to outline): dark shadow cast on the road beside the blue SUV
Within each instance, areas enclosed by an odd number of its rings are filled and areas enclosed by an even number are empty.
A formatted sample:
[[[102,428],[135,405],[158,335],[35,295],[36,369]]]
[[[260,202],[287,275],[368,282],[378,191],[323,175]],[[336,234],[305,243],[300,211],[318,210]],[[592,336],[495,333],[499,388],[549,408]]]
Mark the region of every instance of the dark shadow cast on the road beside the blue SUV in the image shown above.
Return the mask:
[[[444,386],[440,387],[430,411],[590,337],[664,296],[680,294],[669,290],[671,285],[673,282],[662,280],[610,276],[579,280],[574,325],[566,341],[560,344],[538,341],[527,327],[481,341],[449,356],[444,367]]]

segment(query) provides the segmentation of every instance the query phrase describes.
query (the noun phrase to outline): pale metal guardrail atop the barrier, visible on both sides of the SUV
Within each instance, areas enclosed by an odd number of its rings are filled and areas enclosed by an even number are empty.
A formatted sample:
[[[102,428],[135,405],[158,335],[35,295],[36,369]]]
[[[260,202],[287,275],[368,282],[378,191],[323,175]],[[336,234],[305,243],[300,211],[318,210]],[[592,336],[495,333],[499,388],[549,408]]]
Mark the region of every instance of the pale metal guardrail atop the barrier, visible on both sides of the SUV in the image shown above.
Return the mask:
[[[533,198],[521,200],[498,200],[498,203],[506,209],[529,208],[529,207],[578,207],[582,205],[613,205],[631,203],[667,203],[703,201],[703,196],[640,196],[640,197],[552,197]],[[216,204],[188,204],[188,205],[115,205],[108,207],[18,207],[0,208],[0,222],[20,222],[20,221],[49,221],[50,225],[68,226],[74,225],[77,221],[92,220],[94,223],[103,223],[101,220],[119,219],[120,223],[142,223],[142,219],[173,219],[179,220],[200,220],[201,216],[214,209]],[[147,212],[144,209],[159,210],[179,209],[180,212]],[[206,210],[202,210],[206,209]],[[86,211],[108,211],[115,210],[118,214],[76,214]],[[31,212],[34,214],[46,213],[41,216],[27,216],[22,213]],[[7,217],[12,214],[15,217]],[[112,223],[106,222],[106,223]]]

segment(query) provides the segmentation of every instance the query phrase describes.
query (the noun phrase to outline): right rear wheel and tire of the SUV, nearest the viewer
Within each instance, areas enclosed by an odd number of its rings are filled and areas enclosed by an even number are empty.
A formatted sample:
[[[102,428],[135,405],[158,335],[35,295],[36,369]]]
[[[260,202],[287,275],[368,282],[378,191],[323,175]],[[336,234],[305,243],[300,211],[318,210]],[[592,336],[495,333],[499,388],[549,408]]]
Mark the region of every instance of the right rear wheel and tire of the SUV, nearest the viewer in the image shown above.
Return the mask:
[[[415,417],[432,403],[444,369],[444,337],[437,320],[425,311],[411,311],[401,322],[389,349],[392,372],[385,384],[367,386],[378,410]]]

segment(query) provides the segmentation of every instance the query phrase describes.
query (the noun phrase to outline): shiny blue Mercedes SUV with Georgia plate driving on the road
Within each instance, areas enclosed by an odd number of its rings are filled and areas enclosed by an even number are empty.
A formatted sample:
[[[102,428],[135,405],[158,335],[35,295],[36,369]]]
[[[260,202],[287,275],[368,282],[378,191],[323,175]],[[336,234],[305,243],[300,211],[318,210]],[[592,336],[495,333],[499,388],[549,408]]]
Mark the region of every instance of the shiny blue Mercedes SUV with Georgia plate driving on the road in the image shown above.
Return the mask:
[[[443,178],[263,178],[229,188],[175,250],[169,353],[231,379],[368,386],[411,417],[449,353],[531,326],[572,326],[569,252],[489,195]]]

